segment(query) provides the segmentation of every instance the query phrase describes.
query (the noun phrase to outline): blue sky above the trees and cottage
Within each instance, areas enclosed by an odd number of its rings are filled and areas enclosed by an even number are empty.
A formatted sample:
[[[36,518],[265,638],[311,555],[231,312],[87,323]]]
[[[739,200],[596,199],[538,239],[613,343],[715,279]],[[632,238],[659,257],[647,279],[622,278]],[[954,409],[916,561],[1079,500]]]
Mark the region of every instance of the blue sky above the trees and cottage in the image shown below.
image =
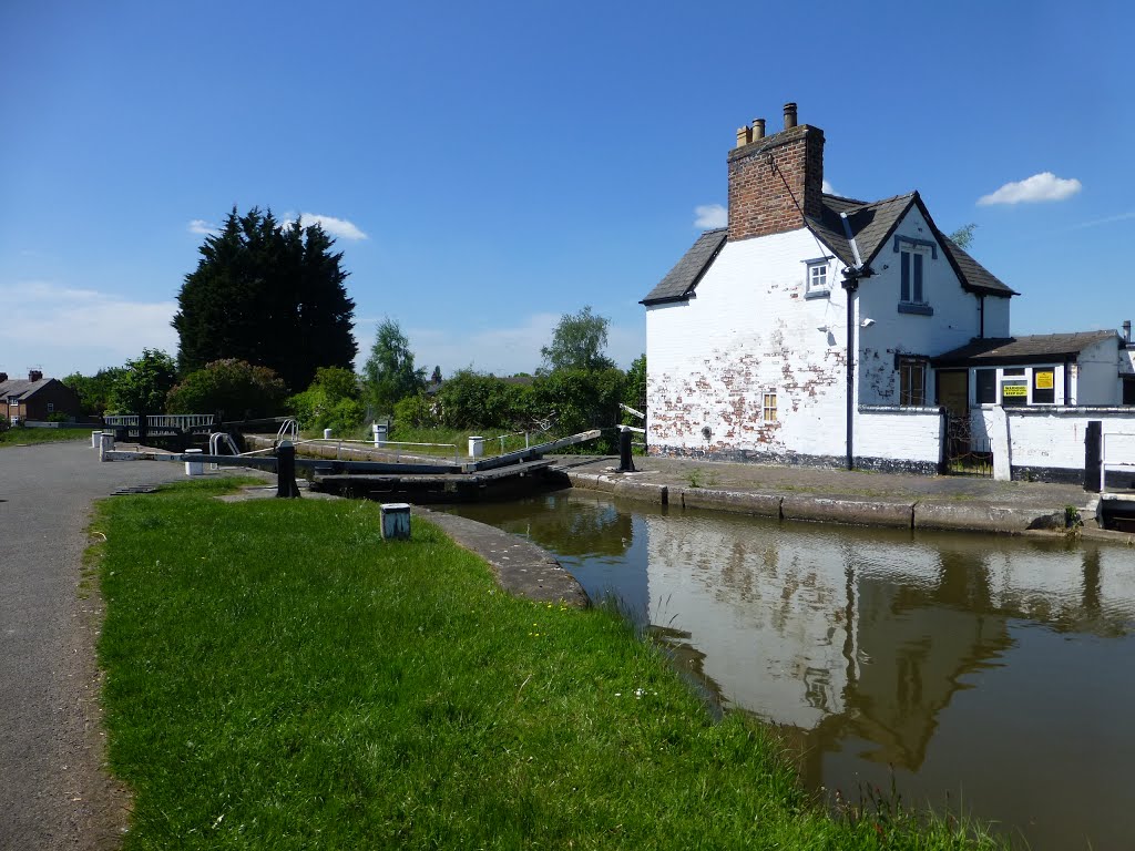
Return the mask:
[[[1135,318],[1135,12],[1115,2],[0,5],[0,370],[91,374],[169,326],[236,205],[325,217],[355,336],[531,371],[562,313],[638,301],[785,101],[825,177],[918,189],[1017,334]],[[1017,186],[1017,184],[1020,184]],[[992,196],[990,203],[978,203]],[[1014,201],[1009,203],[1009,201]]]

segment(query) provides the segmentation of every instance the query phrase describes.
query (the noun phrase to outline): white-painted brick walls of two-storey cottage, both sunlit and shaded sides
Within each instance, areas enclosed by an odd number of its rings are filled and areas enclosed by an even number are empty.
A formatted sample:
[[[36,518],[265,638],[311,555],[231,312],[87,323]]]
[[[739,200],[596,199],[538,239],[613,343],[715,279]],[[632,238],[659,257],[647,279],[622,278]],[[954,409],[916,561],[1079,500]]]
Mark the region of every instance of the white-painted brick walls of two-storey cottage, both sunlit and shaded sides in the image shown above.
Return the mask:
[[[897,233],[933,238],[917,209]],[[892,246],[893,242],[883,246],[873,263],[875,275],[860,284],[856,304],[858,403],[864,405],[898,405],[897,352],[935,355],[978,332],[978,301],[961,288],[941,247],[925,268],[925,292],[934,315],[899,313],[899,255]],[[805,298],[802,261],[827,253],[804,229],[726,243],[695,297],[647,307],[651,446],[835,457],[846,453],[842,263],[831,261],[830,297]],[[861,318],[874,323],[863,328]],[[1008,300],[986,300],[986,334],[1008,335]],[[934,388],[927,384],[931,402]],[[765,393],[776,394],[776,422],[764,421]],[[708,429],[708,437],[703,429]],[[898,439],[876,441],[885,454],[874,448],[868,453],[866,447],[876,444],[871,436],[866,439],[864,444],[857,436],[856,455],[938,460],[939,427],[933,416],[926,422],[903,421]]]

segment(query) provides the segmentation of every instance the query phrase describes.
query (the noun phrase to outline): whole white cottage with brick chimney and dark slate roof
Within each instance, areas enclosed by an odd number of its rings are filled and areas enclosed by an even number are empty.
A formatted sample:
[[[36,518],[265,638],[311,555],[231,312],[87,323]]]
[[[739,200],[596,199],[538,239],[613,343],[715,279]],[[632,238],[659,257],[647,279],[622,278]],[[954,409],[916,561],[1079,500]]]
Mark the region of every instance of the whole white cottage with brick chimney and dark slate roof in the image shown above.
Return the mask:
[[[653,453],[931,473],[951,416],[968,440],[990,376],[970,355],[1014,339],[1017,293],[939,230],[917,192],[824,193],[823,148],[794,103],[781,133],[766,136],[760,119],[738,130],[729,226],[704,233],[642,300]],[[1091,344],[1128,351],[1104,337]],[[1075,354],[1044,357],[1028,403],[1046,380],[1052,404],[1085,395]],[[1127,385],[1110,363],[1110,396],[1079,404],[1119,403]],[[995,380],[1014,378],[1002,366],[1016,364],[999,362]]]

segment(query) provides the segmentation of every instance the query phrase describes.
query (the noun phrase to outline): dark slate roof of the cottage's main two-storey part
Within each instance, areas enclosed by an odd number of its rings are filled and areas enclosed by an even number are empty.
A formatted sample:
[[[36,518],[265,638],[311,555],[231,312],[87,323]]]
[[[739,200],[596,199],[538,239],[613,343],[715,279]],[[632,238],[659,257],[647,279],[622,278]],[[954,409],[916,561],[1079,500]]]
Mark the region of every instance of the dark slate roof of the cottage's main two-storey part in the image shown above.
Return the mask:
[[[933,228],[942,245],[942,251],[953,267],[958,279],[961,280],[962,287],[981,295],[1018,295],[1016,290],[998,280],[995,276],[938,229],[917,192],[871,203],[839,195],[824,195],[823,211],[819,217],[808,217],[805,221],[816,238],[826,245],[844,266],[854,267],[857,263],[851,242],[848,239],[848,228],[850,228],[851,237],[855,238],[856,247],[859,250],[859,259],[864,266],[869,267],[889,242],[902,217],[911,207],[916,205]],[[844,220],[840,213],[847,214],[848,228],[844,228]],[[698,281],[708,271],[728,236],[728,228],[707,230],[701,234],[693,243],[693,247],[686,252],[678,264],[670,270],[665,278],[658,281],[658,285],[647,294],[641,303],[659,304],[688,298],[697,287]]]

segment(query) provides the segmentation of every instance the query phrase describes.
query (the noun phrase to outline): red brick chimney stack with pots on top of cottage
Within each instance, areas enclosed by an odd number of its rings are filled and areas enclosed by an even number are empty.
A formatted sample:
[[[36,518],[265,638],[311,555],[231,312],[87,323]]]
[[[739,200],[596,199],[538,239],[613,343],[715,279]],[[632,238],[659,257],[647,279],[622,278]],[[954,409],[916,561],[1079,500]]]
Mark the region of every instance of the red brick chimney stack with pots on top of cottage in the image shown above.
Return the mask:
[[[764,135],[765,121],[737,132],[729,152],[729,239],[783,234],[818,217],[824,185],[824,132],[798,125],[796,104],[784,104],[784,129]],[[799,204],[799,209],[797,208]]]

